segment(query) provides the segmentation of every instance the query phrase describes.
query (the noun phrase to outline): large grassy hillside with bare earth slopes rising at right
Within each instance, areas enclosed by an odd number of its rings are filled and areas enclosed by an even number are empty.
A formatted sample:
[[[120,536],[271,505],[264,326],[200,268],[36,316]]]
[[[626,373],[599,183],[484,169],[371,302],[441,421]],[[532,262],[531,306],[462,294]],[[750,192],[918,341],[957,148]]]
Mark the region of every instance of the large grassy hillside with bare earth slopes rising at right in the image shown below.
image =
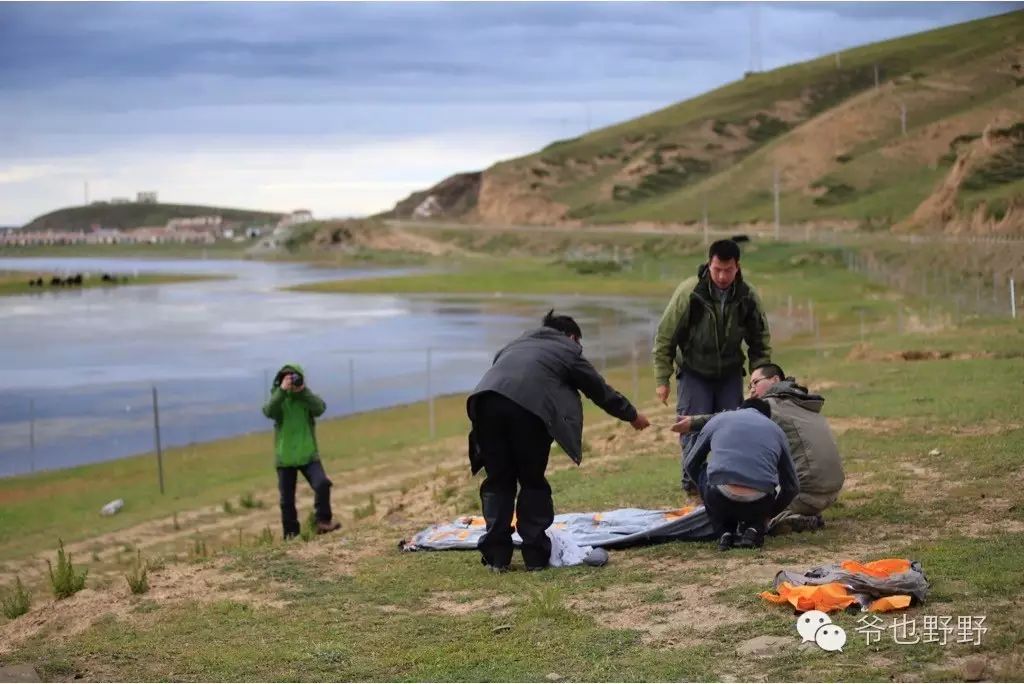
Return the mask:
[[[943,224],[982,204],[994,205],[982,218],[997,222],[1024,205],[1024,146],[983,134],[1024,123],[1022,45],[1024,11],[1016,11],[846,50],[838,62],[829,55],[749,75],[499,163],[466,216],[685,222],[707,207],[713,222],[771,220],[777,171],[783,220],[888,227],[973,155],[972,168],[995,173],[957,184],[940,220],[923,222]]]

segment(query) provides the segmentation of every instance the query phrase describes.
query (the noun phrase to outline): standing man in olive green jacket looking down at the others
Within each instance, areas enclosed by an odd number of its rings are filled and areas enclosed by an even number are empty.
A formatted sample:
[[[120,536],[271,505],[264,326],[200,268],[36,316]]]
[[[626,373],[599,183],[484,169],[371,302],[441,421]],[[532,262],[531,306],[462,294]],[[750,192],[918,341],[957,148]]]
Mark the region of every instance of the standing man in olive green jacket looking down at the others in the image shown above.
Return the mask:
[[[657,398],[668,403],[670,378],[677,379],[678,416],[716,414],[743,400],[743,351],[750,368],[771,360],[768,316],[761,299],[743,281],[739,246],[731,240],[712,243],[708,262],[696,277],[676,288],[654,336]],[[682,464],[693,436],[680,436],[682,485],[696,489]]]

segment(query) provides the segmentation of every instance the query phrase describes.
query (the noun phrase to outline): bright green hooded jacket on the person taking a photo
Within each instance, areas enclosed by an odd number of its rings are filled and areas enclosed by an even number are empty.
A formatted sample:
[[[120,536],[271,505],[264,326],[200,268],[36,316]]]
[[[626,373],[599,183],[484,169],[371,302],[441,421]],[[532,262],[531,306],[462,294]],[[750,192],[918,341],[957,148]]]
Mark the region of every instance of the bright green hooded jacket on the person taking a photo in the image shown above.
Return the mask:
[[[270,398],[263,404],[263,415],[273,420],[273,452],[278,467],[301,468],[319,458],[316,447],[316,418],[327,411],[324,399],[303,386],[301,392],[281,388],[284,372],[292,370],[303,376],[298,364],[286,364],[273,378]]]

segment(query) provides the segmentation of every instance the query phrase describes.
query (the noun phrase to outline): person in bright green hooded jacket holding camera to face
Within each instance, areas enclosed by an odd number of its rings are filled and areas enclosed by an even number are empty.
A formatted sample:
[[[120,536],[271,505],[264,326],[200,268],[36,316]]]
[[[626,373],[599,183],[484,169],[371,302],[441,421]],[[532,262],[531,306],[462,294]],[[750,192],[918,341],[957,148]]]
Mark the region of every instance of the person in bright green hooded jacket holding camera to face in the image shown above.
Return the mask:
[[[274,376],[270,398],[263,404],[263,415],[273,420],[281,524],[285,539],[299,533],[299,516],[295,510],[295,484],[299,472],[313,488],[316,533],[341,527],[341,523],[333,520],[331,480],[324,472],[316,446],[316,418],[327,411],[327,404],[306,386],[304,376],[298,364],[283,367]]]

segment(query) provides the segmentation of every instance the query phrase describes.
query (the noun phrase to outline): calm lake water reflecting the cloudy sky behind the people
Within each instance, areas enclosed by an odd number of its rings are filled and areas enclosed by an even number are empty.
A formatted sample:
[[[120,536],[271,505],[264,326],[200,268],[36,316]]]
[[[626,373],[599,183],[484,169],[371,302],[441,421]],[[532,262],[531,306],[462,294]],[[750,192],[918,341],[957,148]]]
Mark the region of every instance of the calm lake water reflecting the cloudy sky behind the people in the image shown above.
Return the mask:
[[[0,259],[0,270],[230,276],[0,297],[0,476],[152,451],[154,385],[164,444],[184,444],[266,429],[260,404],[288,361],[305,366],[327,417],[341,416],[421,400],[428,382],[435,394],[470,389],[551,306],[578,317],[597,365],[634,345],[646,359],[656,315],[580,297],[281,292],[381,272],[304,264]]]

